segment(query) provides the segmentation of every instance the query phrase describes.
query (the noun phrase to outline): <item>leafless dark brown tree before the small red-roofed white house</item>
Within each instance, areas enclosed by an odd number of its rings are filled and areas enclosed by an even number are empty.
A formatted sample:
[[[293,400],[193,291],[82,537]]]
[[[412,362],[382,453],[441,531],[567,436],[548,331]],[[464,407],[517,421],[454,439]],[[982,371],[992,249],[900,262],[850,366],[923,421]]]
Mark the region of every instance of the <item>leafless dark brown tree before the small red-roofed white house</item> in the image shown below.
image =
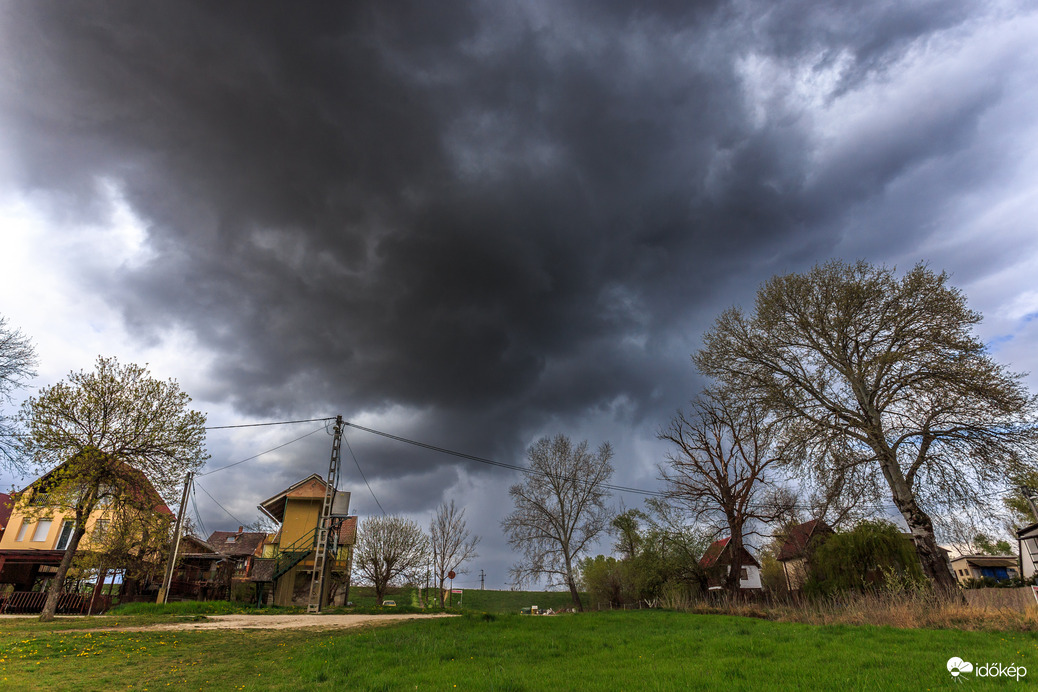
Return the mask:
[[[727,531],[730,536],[725,586],[736,594],[745,537],[757,532],[758,524],[788,514],[794,501],[773,485],[783,462],[775,423],[752,406],[707,390],[659,438],[677,447],[660,466],[667,498],[715,535]]]

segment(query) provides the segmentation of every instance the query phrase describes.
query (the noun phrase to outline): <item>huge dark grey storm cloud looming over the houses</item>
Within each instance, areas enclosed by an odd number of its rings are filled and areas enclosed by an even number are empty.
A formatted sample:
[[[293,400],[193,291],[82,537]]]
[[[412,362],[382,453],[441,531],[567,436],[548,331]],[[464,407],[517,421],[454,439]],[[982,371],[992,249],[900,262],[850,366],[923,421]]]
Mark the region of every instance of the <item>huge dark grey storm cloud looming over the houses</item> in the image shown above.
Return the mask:
[[[819,164],[805,116],[747,95],[749,57],[839,67],[836,98],[967,9],[8,3],[2,124],[56,210],[120,190],[154,255],[104,289],[139,334],[214,350],[239,410],[401,406],[416,437],[512,454],[619,399],[651,434],[718,307],[824,258],[1000,88]]]

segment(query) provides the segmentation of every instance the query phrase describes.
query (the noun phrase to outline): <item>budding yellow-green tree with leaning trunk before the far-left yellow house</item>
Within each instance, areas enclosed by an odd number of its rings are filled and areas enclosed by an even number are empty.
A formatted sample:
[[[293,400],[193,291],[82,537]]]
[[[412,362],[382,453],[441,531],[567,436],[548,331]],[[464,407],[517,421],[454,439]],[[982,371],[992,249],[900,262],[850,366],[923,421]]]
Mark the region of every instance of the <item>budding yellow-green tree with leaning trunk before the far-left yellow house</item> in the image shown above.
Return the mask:
[[[175,381],[114,358],[99,358],[95,371],[72,372],[25,402],[25,449],[46,473],[19,502],[29,514],[58,509],[74,522],[40,619],[53,619],[95,509],[155,511],[162,499],[152,488],[173,496],[185,474],[204,463],[206,416],[190,402]]]

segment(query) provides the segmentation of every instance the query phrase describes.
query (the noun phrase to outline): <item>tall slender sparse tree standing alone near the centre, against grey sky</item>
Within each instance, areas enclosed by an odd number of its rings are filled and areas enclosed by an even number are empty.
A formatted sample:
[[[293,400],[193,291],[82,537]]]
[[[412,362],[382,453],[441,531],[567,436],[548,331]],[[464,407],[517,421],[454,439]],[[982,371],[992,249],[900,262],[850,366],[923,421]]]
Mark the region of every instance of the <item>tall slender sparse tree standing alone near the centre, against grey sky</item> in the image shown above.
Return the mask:
[[[549,585],[559,579],[574,607],[583,610],[576,571],[580,557],[609,525],[604,486],[612,476],[612,448],[606,442],[593,454],[586,440],[574,447],[569,438],[556,435],[541,438],[527,453],[530,466],[523,482],[509,490],[515,510],[501,522],[509,545],[521,550],[525,560],[510,575],[517,585],[541,576]]]

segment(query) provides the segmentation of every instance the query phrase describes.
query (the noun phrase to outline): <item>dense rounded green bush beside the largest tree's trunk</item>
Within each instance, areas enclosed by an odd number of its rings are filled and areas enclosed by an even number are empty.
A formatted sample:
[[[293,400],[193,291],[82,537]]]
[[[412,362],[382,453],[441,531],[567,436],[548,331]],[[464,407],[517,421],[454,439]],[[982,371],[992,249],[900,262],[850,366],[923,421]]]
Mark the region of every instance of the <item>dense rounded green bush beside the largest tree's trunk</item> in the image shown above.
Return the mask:
[[[808,593],[875,590],[892,578],[899,584],[925,583],[912,545],[898,527],[866,521],[818,546],[809,559],[803,589]]]

